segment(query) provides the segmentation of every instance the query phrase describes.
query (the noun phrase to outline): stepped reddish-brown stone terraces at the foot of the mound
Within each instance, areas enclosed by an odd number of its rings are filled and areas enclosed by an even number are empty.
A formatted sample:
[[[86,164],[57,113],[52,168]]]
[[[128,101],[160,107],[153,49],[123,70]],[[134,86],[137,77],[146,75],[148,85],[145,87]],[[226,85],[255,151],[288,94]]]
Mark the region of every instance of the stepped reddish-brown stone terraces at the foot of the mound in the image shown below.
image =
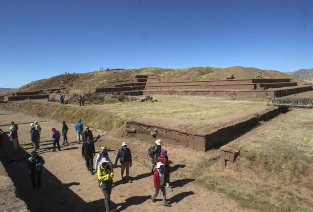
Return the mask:
[[[96,93],[213,95],[232,97],[279,97],[311,91],[312,85],[298,85],[291,79],[228,79],[160,82],[156,75],[137,75],[135,83],[97,88]]]

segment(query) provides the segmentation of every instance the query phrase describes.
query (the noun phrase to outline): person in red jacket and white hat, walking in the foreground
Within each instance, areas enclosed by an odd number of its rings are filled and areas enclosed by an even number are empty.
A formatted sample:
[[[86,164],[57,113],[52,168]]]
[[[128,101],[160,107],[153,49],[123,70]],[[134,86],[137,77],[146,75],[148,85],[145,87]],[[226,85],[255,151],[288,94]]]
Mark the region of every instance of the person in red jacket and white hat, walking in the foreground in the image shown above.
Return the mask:
[[[151,201],[153,203],[156,202],[156,196],[161,189],[162,192],[162,199],[163,199],[163,206],[171,207],[166,201],[166,191],[165,191],[165,180],[164,180],[164,164],[162,162],[158,162],[156,164],[156,170],[153,174],[153,182],[154,182],[154,192],[151,196]]]

